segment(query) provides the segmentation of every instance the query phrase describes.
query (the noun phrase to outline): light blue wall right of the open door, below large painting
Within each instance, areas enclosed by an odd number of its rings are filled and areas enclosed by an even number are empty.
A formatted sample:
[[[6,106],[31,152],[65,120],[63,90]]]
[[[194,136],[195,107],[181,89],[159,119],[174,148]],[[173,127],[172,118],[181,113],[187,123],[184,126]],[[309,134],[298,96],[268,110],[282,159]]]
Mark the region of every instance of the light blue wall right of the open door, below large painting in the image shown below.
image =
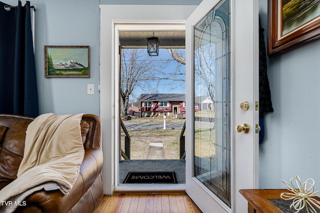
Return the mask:
[[[267,1],[259,0],[267,29]],[[320,40],[268,58],[273,113],[265,117],[265,141],[259,152],[260,188],[285,188],[281,180],[312,178],[320,190]]]

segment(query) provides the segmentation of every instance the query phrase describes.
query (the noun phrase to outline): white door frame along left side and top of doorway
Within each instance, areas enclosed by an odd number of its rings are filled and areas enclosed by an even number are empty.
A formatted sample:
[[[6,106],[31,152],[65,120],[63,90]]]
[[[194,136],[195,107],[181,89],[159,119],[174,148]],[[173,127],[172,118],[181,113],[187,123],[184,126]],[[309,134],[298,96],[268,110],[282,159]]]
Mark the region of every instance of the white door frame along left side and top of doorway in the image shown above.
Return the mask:
[[[149,25],[185,23],[196,5],[99,5],[100,7],[100,118],[102,122],[103,193],[118,185],[118,36],[124,23]]]

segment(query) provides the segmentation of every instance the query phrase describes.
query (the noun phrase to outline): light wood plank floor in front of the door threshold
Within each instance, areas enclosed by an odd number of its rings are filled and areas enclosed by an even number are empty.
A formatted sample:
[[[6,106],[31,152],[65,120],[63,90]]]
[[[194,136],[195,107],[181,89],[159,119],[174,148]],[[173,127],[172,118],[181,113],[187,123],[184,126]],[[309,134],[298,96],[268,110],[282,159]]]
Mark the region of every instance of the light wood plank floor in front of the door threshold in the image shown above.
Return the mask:
[[[201,213],[186,194],[103,196],[94,213]]]

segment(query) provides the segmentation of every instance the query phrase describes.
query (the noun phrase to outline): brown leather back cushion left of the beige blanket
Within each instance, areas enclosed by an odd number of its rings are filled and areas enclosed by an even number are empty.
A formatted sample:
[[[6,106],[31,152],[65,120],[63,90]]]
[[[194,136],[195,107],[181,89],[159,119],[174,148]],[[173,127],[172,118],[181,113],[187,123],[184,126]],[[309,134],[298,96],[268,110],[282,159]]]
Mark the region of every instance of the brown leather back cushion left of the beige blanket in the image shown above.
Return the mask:
[[[29,121],[17,121],[7,130],[0,147],[0,181],[13,181],[19,169]]]

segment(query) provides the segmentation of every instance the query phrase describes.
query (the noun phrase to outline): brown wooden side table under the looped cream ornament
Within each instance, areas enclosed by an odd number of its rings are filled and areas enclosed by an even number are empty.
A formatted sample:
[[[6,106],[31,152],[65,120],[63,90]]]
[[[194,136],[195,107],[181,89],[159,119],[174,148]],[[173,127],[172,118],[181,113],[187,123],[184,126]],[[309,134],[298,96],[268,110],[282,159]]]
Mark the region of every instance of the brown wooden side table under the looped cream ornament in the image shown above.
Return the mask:
[[[248,202],[248,213],[282,213],[269,200],[281,199],[283,192],[289,192],[286,189],[270,189],[270,190],[239,190],[240,194]],[[313,197],[320,201],[320,198]]]

